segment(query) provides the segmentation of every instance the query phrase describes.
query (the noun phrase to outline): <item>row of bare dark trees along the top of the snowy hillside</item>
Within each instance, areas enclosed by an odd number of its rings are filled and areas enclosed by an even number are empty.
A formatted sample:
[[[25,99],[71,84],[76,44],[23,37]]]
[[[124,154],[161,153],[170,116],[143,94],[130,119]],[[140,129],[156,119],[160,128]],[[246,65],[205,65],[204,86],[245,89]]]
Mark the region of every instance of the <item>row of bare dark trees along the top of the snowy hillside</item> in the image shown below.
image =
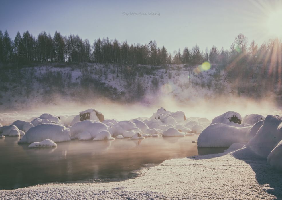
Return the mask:
[[[1,63],[29,63],[39,62],[96,62],[119,65],[164,65],[187,64],[195,65],[209,61],[220,65],[278,65],[282,60],[282,43],[279,39],[270,39],[260,47],[242,33],[235,37],[229,49],[219,50],[213,46],[210,50],[201,51],[198,45],[191,49],[185,47],[183,51],[174,51],[173,55],[156,41],[148,44],[131,44],[117,39],[98,38],[93,45],[88,39],[81,39],[78,35],[62,36],[56,31],[53,36],[42,31],[34,37],[29,31],[22,35],[17,32],[15,39],[9,37],[7,30],[0,31],[0,62]],[[281,64],[281,62],[280,62]]]

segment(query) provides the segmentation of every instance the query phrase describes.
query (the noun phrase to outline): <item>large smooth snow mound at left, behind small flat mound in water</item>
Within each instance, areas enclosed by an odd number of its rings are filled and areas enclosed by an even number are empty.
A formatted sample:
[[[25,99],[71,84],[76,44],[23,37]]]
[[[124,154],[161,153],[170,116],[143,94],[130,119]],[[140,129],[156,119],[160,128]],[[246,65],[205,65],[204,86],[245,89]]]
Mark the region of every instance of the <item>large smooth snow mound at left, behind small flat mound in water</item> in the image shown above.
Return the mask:
[[[45,139],[54,142],[70,141],[68,129],[62,125],[47,123],[31,127],[18,143],[40,142]]]

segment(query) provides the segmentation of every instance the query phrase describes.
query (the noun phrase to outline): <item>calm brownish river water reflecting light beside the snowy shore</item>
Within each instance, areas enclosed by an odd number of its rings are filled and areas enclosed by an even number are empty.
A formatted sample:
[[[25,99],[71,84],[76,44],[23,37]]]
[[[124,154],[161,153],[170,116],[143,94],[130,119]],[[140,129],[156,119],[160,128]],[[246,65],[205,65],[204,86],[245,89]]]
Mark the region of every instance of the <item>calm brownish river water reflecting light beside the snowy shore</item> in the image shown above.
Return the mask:
[[[27,148],[19,138],[0,140],[0,189],[39,183],[127,178],[145,163],[198,155],[198,135],[143,140],[68,141],[58,147]],[[223,150],[222,150],[223,151]]]

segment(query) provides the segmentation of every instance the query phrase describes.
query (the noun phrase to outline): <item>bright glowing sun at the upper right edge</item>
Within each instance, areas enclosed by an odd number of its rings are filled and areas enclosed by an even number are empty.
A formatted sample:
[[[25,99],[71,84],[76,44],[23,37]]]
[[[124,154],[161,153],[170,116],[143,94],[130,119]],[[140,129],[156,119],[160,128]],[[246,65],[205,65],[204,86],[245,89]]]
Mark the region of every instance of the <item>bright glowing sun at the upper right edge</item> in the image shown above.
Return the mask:
[[[272,12],[267,21],[267,28],[270,35],[282,36],[282,9]]]

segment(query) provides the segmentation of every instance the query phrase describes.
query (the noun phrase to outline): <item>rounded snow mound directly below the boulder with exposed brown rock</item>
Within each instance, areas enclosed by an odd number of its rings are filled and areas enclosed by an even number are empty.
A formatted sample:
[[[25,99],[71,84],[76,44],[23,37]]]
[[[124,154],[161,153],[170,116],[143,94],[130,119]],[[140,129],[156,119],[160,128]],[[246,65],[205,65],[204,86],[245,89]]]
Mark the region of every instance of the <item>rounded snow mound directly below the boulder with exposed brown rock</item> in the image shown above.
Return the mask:
[[[99,132],[108,131],[108,126],[102,122],[89,119],[79,121],[70,128],[70,137],[79,139],[78,134],[84,131],[87,131],[92,138],[95,138]]]

